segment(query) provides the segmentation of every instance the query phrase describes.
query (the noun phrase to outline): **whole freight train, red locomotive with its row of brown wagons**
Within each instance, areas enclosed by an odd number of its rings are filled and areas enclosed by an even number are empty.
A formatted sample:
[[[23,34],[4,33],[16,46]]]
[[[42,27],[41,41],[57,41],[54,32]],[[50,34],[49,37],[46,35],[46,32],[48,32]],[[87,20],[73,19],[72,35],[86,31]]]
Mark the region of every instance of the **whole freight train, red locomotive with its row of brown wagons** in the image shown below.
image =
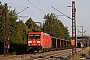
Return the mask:
[[[70,47],[70,40],[52,37],[44,32],[28,32],[27,51],[50,51]]]

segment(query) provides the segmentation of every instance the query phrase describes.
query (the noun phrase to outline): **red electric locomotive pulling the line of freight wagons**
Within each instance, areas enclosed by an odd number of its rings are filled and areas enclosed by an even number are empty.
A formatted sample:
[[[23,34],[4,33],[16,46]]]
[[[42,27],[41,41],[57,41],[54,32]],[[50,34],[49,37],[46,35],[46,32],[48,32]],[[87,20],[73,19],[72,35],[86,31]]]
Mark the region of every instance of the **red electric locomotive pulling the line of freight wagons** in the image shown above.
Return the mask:
[[[51,48],[51,37],[43,32],[28,32],[27,51],[47,50]]]

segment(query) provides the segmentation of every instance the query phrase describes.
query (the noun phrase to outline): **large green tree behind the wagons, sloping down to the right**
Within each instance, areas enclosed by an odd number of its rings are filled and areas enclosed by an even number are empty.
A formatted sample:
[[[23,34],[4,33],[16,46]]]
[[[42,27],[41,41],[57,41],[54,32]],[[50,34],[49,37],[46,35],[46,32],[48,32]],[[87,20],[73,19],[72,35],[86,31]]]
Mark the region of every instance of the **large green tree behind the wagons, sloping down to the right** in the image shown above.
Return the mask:
[[[51,36],[68,39],[69,33],[63,23],[58,20],[54,13],[47,14],[44,16],[43,31],[50,34]]]

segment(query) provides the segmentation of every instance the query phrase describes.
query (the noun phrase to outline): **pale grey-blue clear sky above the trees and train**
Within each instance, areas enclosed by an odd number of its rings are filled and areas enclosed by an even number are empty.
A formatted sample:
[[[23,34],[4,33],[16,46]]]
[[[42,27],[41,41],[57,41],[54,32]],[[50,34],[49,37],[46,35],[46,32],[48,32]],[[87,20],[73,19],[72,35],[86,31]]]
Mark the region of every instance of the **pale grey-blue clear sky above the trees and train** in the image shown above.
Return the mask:
[[[18,16],[20,20],[26,22],[28,18],[32,18],[35,22],[43,22],[44,15],[48,13],[55,13],[58,19],[64,24],[64,26],[68,27],[70,35],[72,34],[72,20],[68,19],[62,15],[60,12],[53,9],[58,9],[65,15],[72,17],[72,8],[67,7],[72,5],[72,1],[75,1],[76,8],[76,25],[83,26],[84,35],[90,35],[90,0],[0,0],[2,4],[7,3],[8,9],[13,10],[16,9],[16,12],[21,12],[25,8],[23,12],[19,13]],[[82,32],[81,27],[77,27],[76,29],[77,35],[81,35]],[[80,32],[79,32],[80,31]]]

